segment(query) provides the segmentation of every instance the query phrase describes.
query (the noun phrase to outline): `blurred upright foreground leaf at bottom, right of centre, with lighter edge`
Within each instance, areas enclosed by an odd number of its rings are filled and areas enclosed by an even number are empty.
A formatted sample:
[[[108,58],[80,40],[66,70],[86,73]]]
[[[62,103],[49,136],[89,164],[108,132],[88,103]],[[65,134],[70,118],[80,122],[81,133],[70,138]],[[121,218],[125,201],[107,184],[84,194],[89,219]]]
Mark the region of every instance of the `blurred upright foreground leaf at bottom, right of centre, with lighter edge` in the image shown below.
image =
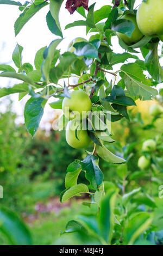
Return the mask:
[[[101,201],[98,223],[101,234],[106,242],[111,242],[112,231],[114,228],[114,205],[117,191],[110,190]]]

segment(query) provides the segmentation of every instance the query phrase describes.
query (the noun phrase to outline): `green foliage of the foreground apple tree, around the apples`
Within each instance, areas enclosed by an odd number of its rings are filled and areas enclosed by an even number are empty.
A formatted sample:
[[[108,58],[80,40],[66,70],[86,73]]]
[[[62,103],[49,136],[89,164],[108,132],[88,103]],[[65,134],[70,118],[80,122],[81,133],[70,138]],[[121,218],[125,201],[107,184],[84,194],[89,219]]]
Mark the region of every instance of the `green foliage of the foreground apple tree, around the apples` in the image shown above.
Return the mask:
[[[135,1],[112,1],[112,3],[110,1],[111,5],[104,5],[101,9],[94,10],[96,3],[89,5],[88,0],[67,0],[67,10],[65,11],[69,11],[70,14],[77,11],[81,19],[67,24],[65,29],[83,26],[86,35],[89,35],[89,40],[76,42],[73,44],[74,52],[67,51],[61,54],[59,45],[64,40],[64,30],[60,27],[59,12],[63,3],[63,0],[35,0],[21,4],[18,1],[0,0],[0,4],[16,5],[21,12],[15,21],[15,36],[21,33],[24,25],[39,10],[48,5],[49,11],[45,22],[47,22],[49,31],[57,38],[48,47],[42,47],[36,52],[34,66],[30,63],[22,63],[23,47],[19,44],[15,46],[12,60],[16,69],[10,65],[0,64],[2,71],[0,77],[16,78],[18,82],[12,87],[1,88],[0,97],[18,93],[18,99],[21,100],[25,95],[30,96],[24,108],[24,119],[27,130],[33,137],[39,127],[43,109],[48,104],[48,99],[51,97],[55,99],[49,104],[52,108],[61,109],[62,100],[64,97],[70,97],[70,92],[73,90],[80,89],[89,94],[92,112],[103,112],[104,121],[99,120],[103,129],[97,130],[95,124],[92,123],[92,130],[87,131],[94,143],[93,151],[87,151],[84,160],[74,160],[68,166],[65,190],[61,192],[60,201],[64,203],[74,196],[88,193],[91,202],[84,202],[83,204],[89,207],[96,204],[99,208],[99,214],[81,215],[79,216],[81,222],[68,222],[64,234],[78,232],[89,238],[90,236],[85,229],[86,226],[99,243],[111,244],[112,231],[114,225],[117,225],[116,229],[118,232],[122,230],[123,234],[123,237],[122,235],[119,237],[120,242],[133,245],[135,240],[152,223],[153,216],[146,211],[137,212],[134,216],[127,215],[126,209],[130,200],[134,198],[138,205],[144,202],[152,209],[156,205],[151,197],[143,193],[141,188],[130,193],[123,191],[123,197],[119,203],[124,209],[124,218],[122,218],[120,225],[113,214],[118,189],[110,187],[110,183],[104,181],[104,174],[98,163],[101,157],[106,162],[120,164],[117,172],[123,182],[126,182],[128,175],[125,164],[128,159],[127,154],[115,155],[105,147],[106,143],[114,142],[111,138],[110,121],[116,122],[127,119],[129,122],[128,106],[135,106],[137,99],[152,100],[158,95],[158,90],[155,87],[163,81],[163,70],[158,56],[159,39],[143,36],[140,41],[127,45],[118,38],[119,45],[124,52],[115,53],[114,45],[111,43],[112,36],[122,33],[130,37],[135,29],[132,21],[120,19],[122,15],[136,14]],[[140,52],[143,60],[140,60],[137,55]],[[121,68],[113,71],[116,64],[122,64]],[[112,80],[108,80],[107,74],[112,75]],[[82,78],[83,75],[87,76],[85,80]],[[117,75],[120,75],[121,78],[118,82]],[[78,77],[82,82],[70,84],[71,77]],[[106,118],[108,111],[110,112],[110,120]],[[60,129],[64,129],[64,127],[60,127]],[[80,172],[85,173],[85,178],[90,182],[90,186],[78,184]],[[138,194],[139,198],[137,197]],[[84,226],[81,223],[84,223]],[[155,235],[161,237],[161,233]],[[147,239],[145,243],[150,243],[152,238],[150,239]]]

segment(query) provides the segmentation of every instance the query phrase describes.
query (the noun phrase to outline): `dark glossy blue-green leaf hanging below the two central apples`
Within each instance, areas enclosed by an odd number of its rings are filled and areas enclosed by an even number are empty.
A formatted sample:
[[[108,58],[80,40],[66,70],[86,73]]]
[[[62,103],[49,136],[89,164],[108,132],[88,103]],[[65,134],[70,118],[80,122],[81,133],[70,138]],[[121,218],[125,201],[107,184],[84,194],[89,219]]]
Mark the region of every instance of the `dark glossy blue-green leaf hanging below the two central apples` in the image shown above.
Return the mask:
[[[98,191],[98,186],[103,182],[103,173],[98,166],[99,159],[95,155],[87,155],[81,162],[82,170],[85,170],[85,178],[90,181],[94,190]]]

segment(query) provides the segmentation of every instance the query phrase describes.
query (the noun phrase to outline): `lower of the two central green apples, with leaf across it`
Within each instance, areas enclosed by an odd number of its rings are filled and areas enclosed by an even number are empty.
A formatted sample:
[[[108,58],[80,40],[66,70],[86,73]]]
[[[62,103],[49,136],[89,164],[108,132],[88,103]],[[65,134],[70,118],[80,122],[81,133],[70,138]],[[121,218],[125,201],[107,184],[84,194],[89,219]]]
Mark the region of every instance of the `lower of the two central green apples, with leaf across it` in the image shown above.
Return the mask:
[[[76,135],[78,139],[76,138]],[[74,149],[86,148],[91,144],[91,139],[86,130],[82,130],[80,121],[69,121],[66,127],[66,141]]]

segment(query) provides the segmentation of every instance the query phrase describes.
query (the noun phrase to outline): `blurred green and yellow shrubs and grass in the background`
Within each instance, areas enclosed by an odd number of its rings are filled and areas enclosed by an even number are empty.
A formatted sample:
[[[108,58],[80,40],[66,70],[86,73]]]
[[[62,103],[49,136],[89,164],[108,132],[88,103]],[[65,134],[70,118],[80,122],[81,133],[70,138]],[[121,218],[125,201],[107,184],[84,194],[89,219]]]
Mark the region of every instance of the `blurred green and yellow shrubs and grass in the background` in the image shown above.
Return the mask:
[[[148,109],[153,103],[138,100],[137,107],[128,109],[130,123],[126,119],[112,123],[116,142],[106,143],[105,146],[116,154],[120,155],[121,152],[120,156],[128,160],[126,179],[122,180],[118,164],[100,160],[99,166],[105,180],[110,182],[110,186],[119,187],[120,194],[125,182],[126,192],[141,186],[143,191],[154,197],[158,206],[154,225],[159,224],[160,229],[163,229],[163,199],[158,197],[159,186],[163,181],[163,116],[153,118],[149,115]],[[65,229],[66,223],[79,212],[89,209],[82,205],[81,197],[64,204],[59,202],[60,192],[65,188],[68,164],[74,159],[82,160],[85,152],[72,149],[66,143],[64,131],[39,130],[32,139],[24,124],[15,124],[17,116],[11,111],[11,105],[0,116],[0,185],[4,188],[4,198],[0,199],[0,204],[23,218],[35,245],[56,244],[60,241],[60,231]],[[149,169],[140,170],[137,166],[142,155],[142,143],[147,139],[155,139],[159,147],[159,163],[154,164],[152,173]],[[85,182],[84,172],[79,179]],[[0,244],[9,244],[6,237],[0,237]],[[68,239],[71,240],[71,237]]]

